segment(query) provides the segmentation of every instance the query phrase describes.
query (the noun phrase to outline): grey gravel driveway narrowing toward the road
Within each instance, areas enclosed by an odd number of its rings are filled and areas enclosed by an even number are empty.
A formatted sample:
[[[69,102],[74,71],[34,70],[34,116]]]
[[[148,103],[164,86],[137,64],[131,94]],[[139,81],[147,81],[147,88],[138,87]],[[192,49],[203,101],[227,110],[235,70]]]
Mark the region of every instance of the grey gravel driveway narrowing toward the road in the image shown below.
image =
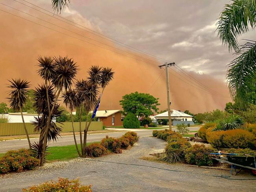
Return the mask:
[[[130,150],[122,154],[107,155],[89,161],[73,159],[64,162],[47,163],[37,170],[0,176],[0,191],[21,191],[31,185],[57,180],[58,177],[70,179],[79,177],[83,185],[93,185],[93,192],[252,192],[256,191],[256,180],[229,180],[210,175],[228,175],[229,171],[184,166],[182,164],[165,164],[138,159],[150,153],[158,153],[165,146],[163,140],[145,137]],[[128,164],[153,166],[135,166],[117,164],[110,161]],[[169,170],[163,170],[169,169]],[[176,172],[176,171],[182,172]],[[256,178],[244,172],[232,176],[233,179]]]

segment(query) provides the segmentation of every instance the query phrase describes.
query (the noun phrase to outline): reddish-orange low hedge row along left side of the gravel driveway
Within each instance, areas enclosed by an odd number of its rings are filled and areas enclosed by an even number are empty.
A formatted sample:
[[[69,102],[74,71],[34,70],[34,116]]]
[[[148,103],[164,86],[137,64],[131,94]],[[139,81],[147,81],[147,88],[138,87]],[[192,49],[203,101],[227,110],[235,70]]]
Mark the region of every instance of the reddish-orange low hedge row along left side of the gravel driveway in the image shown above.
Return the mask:
[[[120,138],[108,137],[101,140],[100,144],[91,144],[87,146],[85,153],[88,157],[100,157],[110,153],[122,153],[122,150],[126,150],[130,146],[133,146],[135,142],[139,140],[137,133],[133,131],[126,132]]]

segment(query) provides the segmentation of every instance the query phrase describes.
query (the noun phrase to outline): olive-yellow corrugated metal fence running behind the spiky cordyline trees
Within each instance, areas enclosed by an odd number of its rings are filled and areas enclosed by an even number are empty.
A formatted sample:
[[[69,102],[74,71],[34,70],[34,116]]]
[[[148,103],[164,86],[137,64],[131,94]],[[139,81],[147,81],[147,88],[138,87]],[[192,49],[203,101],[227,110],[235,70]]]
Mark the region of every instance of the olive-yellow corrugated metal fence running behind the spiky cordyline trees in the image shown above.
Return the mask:
[[[25,123],[26,128],[28,130],[28,134],[33,134],[34,126],[31,123]],[[72,123],[71,122],[63,122],[62,132],[70,132],[72,131]],[[82,122],[82,130],[85,127],[85,122]],[[103,122],[91,122],[89,127],[89,131],[99,131],[103,128]],[[75,131],[79,131],[79,122],[74,122]],[[4,135],[24,135],[25,130],[22,123],[0,123],[0,136]]]

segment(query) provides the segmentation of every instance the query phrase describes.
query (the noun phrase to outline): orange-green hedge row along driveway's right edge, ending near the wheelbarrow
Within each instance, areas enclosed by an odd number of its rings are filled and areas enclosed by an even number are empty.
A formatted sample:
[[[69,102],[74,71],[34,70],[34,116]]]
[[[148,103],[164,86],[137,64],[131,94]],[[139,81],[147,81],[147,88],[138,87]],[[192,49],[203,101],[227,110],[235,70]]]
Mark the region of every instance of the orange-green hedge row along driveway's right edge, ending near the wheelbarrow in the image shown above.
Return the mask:
[[[211,157],[204,153],[213,152],[213,148],[206,147],[203,144],[195,144],[191,146],[181,134],[169,131],[167,129],[161,131],[153,131],[153,136],[161,138],[168,142],[165,147],[165,153],[160,155],[160,160],[166,162],[186,162],[198,166],[211,166],[213,161]]]

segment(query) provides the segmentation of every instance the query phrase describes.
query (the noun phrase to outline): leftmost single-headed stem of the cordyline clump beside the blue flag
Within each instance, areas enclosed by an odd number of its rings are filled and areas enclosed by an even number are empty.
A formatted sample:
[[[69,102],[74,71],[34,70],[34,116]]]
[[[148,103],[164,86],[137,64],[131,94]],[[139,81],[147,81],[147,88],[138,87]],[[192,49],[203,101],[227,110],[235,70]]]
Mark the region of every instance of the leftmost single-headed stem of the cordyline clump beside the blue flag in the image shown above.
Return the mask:
[[[76,151],[78,152],[79,157],[82,157],[82,154],[80,153],[78,146],[77,146],[77,142],[76,142],[73,114],[72,114],[72,111],[78,105],[78,96],[74,89],[69,89],[69,90],[66,90],[65,92],[63,92],[62,98],[63,98],[63,103],[70,109],[70,117],[71,117],[71,122],[72,122],[72,129],[73,129],[74,142],[76,145]]]

